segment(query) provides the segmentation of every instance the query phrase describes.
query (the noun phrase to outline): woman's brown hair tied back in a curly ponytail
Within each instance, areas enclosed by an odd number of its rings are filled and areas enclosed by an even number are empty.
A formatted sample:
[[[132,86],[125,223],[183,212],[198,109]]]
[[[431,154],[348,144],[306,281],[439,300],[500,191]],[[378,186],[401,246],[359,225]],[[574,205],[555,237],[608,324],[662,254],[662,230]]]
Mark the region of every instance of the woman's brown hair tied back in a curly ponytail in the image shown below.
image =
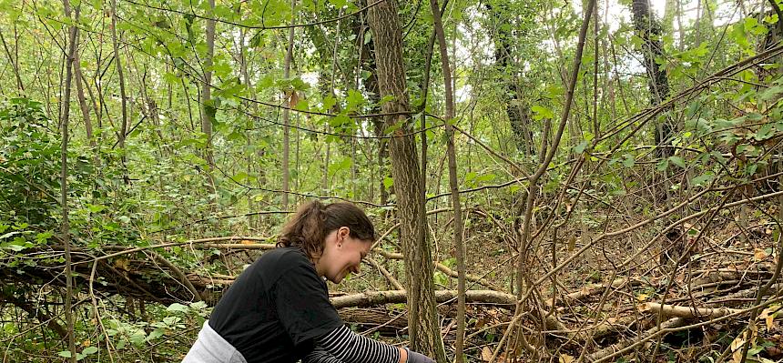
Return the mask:
[[[340,227],[348,227],[351,237],[375,240],[375,228],[359,207],[347,202],[323,205],[313,200],[301,205],[286,223],[277,247],[297,246],[310,258],[320,257],[326,236]]]

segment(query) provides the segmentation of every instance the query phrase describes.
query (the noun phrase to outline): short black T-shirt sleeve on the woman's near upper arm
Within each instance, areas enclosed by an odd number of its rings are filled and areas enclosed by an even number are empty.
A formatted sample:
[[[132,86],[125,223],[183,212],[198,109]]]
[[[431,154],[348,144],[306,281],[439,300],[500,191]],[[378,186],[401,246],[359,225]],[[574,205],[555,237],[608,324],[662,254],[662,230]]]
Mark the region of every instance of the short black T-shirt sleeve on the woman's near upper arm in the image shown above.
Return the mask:
[[[293,256],[293,254],[291,254]],[[289,259],[289,258],[287,258]],[[305,258],[290,258],[273,289],[280,324],[294,346],[342,326],[342,319],[329,301],[326,283]]]

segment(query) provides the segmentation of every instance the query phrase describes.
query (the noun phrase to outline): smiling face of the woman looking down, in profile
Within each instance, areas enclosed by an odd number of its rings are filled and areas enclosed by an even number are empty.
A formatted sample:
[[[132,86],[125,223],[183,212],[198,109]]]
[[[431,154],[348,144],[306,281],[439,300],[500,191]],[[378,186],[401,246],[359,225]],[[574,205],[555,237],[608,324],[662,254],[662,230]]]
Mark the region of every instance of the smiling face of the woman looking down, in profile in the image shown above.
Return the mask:
[[[320,276],[339,284],[348,274],[359,273],[361,259],[370,253],[371,247],[372,241],[351,237],[348,227],[340,227],[326,237],[316,269]]]

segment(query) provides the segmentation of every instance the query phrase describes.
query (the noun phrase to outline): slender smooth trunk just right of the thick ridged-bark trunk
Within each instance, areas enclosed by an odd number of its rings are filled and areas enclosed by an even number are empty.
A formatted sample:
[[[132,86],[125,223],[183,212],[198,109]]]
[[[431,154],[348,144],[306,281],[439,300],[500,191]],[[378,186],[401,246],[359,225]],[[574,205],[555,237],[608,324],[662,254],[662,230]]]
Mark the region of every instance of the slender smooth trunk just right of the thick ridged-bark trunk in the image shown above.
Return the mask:
[[[454,249],[457,257],[457,338],[456,362],[463,363],[463,346],[465,335],[465,250],[463,244],[463,214],[460,204],[460,186],[457,183],[457,157],[454,150],[454,97],[452,70],[449,65],[449,52],[446,49],[446,35],[443,32],[441,9],[438,0],[430,0],[435,36],[438,38],[438,48],[441,51],[443,70],[443,85],[446,96],[446,154],[449,157],[449,186],[452,189],[452,207],[454,209]]]

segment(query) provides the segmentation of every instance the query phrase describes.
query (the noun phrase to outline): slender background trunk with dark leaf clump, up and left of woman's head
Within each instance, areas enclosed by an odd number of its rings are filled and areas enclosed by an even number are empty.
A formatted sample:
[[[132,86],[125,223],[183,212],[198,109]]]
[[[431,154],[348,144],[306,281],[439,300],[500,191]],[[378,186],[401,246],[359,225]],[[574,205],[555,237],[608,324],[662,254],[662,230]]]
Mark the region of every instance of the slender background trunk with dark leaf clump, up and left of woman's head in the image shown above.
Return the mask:
[[[114,0],[117,1],[117,0]],[[218,109],[212,100],[212,58],[215,55],[215,20],[212,18],[215,13],[215,0],[209,0],[209,11],[207,16],[207,26],[205,29],[205,42],[207,43],[207,55],[204,57],[204,82],[201,85],[201,132],[207,135],[207,181],[210,200],[213,207],[217,206],[217,197],[215,193],[215,154],[212,143],[212,123],[215,120],[215,114]]]

